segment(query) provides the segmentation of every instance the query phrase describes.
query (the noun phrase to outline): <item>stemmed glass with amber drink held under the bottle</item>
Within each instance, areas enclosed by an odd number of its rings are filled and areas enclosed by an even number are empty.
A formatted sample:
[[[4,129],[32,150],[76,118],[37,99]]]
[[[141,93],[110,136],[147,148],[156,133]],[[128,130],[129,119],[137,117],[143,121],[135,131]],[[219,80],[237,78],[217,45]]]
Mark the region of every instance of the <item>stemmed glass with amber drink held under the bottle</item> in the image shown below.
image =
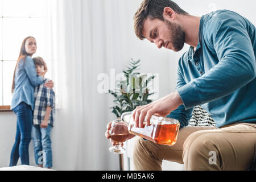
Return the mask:
[[[122,121],[121,119],[115,119],[112,122],[111,129],[109,130],[109,135],[115,142],[115,146],[110,147],[109,151],[114,154],[122,154],[125,152],[125,148],[122,147],[122,143],[129,138],[128,123]]]

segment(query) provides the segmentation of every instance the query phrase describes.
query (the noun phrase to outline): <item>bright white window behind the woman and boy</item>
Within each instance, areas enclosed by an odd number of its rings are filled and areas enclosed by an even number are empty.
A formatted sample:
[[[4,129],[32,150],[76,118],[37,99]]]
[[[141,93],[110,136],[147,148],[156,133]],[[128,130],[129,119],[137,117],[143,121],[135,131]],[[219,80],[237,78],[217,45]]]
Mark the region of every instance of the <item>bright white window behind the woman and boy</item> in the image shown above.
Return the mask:
[[[11,105],[11,85],[22,40],[34,36],[34,56],[43,57],[51,77],[52,0],[0,0],[0,109]],[[6,107],[5,107],[6,108]]]

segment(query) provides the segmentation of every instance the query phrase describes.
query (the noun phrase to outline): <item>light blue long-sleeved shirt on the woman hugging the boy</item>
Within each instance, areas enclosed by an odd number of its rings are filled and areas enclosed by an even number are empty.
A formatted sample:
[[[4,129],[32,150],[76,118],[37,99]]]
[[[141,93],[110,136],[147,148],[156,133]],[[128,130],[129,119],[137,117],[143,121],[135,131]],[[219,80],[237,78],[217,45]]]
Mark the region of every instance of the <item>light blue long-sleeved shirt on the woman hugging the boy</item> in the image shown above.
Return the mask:
[[[25,102],[34,110],[34,90],[35,86],[42,84],[43,77],[36,75],[35,64],[30,56],[25,60],[20,60],[15,72],[15,86],[11,109],[18,106],[20,102]]]

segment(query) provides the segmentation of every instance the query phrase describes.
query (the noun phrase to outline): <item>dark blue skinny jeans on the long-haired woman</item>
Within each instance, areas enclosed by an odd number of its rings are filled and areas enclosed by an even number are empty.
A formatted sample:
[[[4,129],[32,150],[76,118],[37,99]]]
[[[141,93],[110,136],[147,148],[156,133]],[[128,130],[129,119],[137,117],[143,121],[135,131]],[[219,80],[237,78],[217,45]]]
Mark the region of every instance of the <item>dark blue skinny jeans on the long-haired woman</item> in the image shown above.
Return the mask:
[[[21,102],[13,111],[17,116],[17,126],[10,167],[16,166],[19,158],[22,164],[29,165],[28,146],[31,141],[32,109],[30,105]]]

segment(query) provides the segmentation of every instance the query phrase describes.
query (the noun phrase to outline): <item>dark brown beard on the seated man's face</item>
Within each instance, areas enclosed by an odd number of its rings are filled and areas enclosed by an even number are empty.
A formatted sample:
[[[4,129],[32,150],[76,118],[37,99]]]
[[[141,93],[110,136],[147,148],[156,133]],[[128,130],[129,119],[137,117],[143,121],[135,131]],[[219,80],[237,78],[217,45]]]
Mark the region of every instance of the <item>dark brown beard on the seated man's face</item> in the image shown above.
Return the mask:
[[[170,30],[170,40],[172,46],[174,47],[174,51],[180,51],[185,43],[185,31],[183,28],[177,23],[171,23],[169,20],[165,19],[167,27]]]

